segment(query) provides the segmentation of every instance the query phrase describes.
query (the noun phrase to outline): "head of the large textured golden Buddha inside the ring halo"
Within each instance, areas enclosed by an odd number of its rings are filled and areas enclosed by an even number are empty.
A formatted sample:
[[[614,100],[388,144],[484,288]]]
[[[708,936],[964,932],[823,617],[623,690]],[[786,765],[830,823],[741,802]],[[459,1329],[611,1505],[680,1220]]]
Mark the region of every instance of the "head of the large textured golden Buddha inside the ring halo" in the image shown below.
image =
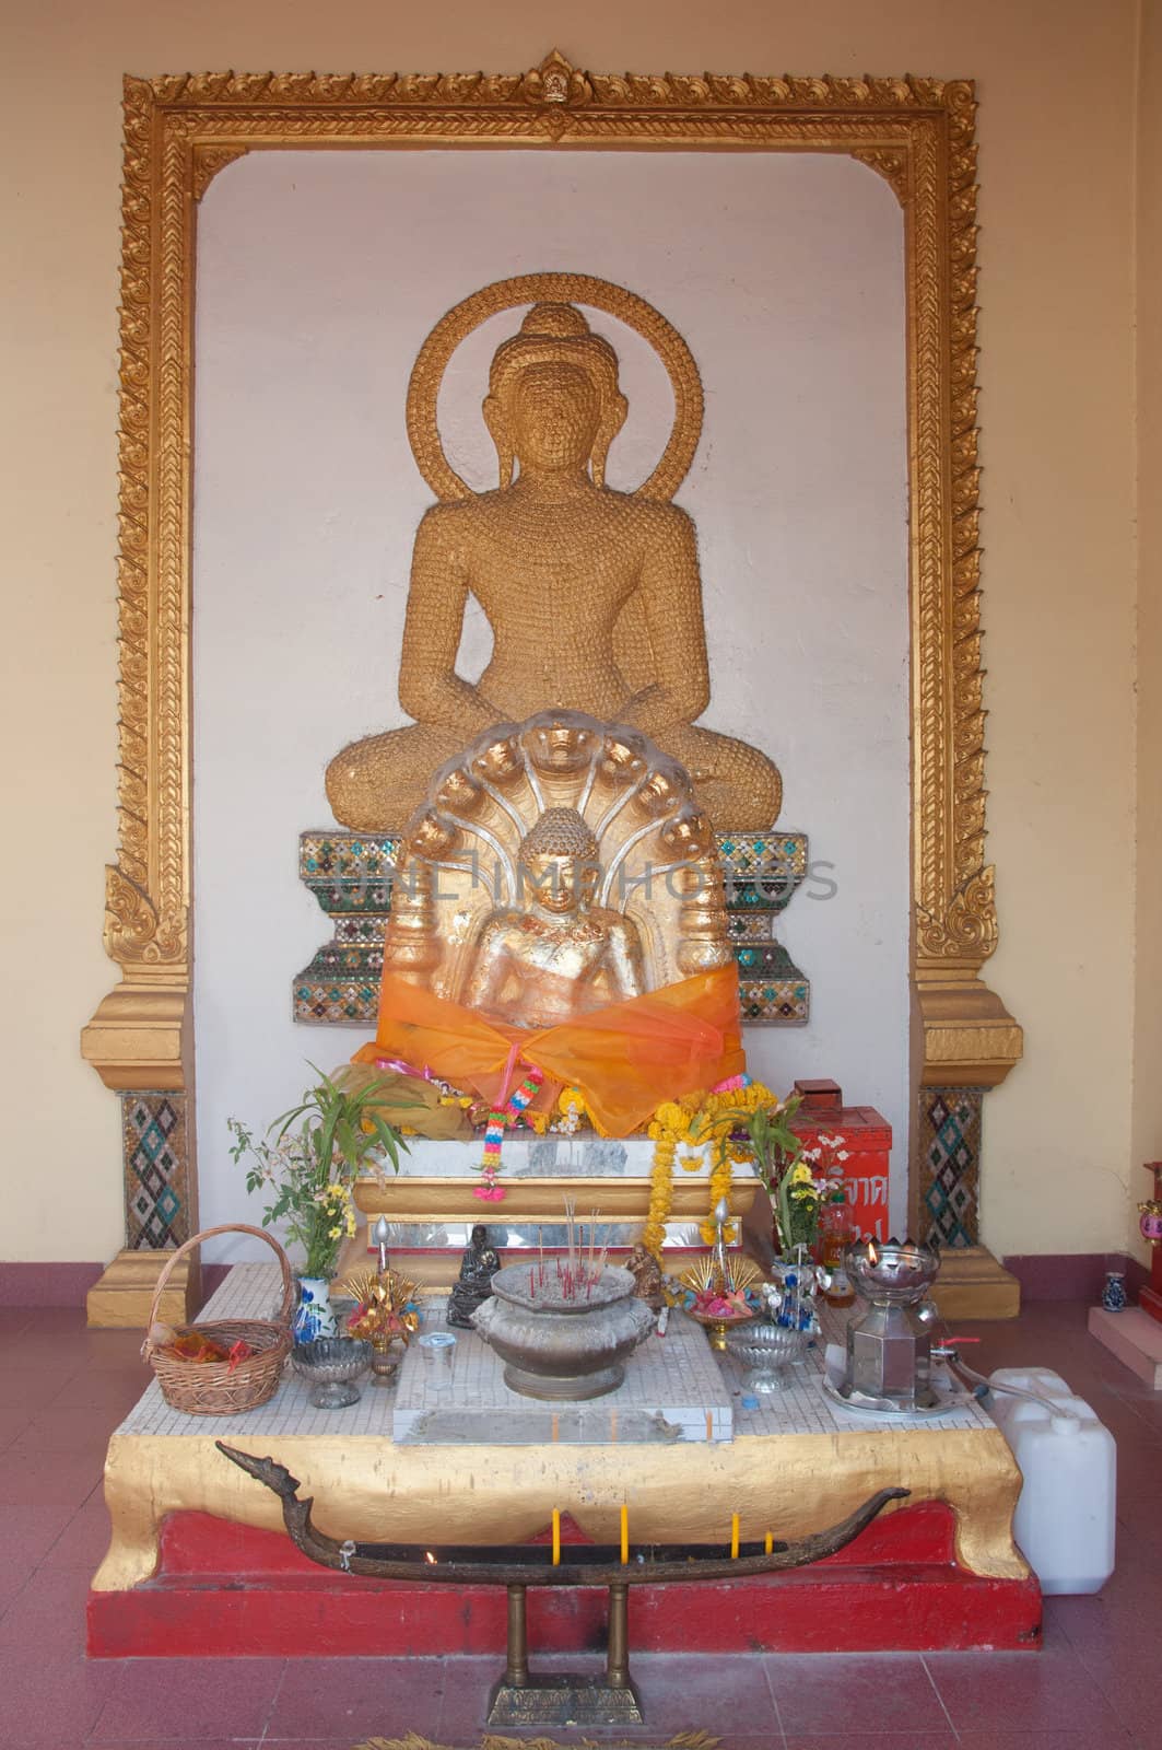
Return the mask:
[[[534,304],[520,334],[497,346],[488,373],[485,424],[500,460],[500,488],[513,464],[537,472],[588,467],[606,485],[606,457],[625,424],[618,355],[572,304]]]

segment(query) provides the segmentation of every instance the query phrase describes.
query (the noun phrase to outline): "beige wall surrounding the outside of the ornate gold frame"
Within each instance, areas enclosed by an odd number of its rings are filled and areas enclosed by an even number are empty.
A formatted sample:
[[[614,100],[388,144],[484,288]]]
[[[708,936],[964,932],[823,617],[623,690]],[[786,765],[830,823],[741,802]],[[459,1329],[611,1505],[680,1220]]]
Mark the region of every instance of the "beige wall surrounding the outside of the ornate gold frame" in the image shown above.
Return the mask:
[[[110,984],[100,915],[114,849],[121,72],[508,70],[553,42],[598,68],[978,80],[990,852],[1003,929],[992,980],[1027,1029],[1026,1064],[987,1108],[985,1239],[998,1251],[1120,1246],[1139,1174],[1129,0],[810,10],[788,0],[203,0],[182,10],[77,0],[24,9],[5,37],[10,1097],[0,1253],[105,1258],[121,1239],[117,1108],[77,1054],[77,1029]],[[1143,1013],[1138,1043],[1146,1052]],[[1136,1148],[1146,1146],[1144,1062]]]

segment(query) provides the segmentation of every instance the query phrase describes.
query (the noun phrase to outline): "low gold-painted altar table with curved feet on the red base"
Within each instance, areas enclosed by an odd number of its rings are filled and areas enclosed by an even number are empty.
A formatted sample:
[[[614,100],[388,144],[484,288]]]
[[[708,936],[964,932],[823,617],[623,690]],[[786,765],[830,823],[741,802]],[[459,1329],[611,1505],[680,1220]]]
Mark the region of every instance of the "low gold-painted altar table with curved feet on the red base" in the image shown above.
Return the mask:
[[[275,1290],[271,1267],[242,1265],[208,1314],[257,1312]],[[93,1589],[126,1591],[154,1573],[166,1514],[206,1512],[282,1533],[278,1502],[222,1458],[219,1438],[287,1465],[301,1494],[315,1498],[320,1530],[359,1542],[424,1544],[439,1530],[444,1544],[520,1544],[560,1508],[593,1540],[614,1544],[623,1502],[635,1544],[721,1542],[733,1512],[744,1542],[766,1530],[798,1538],[875,1489],[903,1486],[906,1505],[952,1508],[957,1559],[971,1573],[1029,1573],[1012,1540],[1020,1472],[975,1404],[940,1421],[882,1424],[833,1407],[805,1376],[772,1409],[752,1412],[747,1426],[761,1432],[728,1444],[396,1446],[392,1398],[368,1388],[355,1410],[313,1410],[303,1382],[287,1376],[262,1409],[194,1418],[170,1410],[150,1384],[108,1444],[112,1544]],[[616,1393],[607,1402],[616,1405]]]

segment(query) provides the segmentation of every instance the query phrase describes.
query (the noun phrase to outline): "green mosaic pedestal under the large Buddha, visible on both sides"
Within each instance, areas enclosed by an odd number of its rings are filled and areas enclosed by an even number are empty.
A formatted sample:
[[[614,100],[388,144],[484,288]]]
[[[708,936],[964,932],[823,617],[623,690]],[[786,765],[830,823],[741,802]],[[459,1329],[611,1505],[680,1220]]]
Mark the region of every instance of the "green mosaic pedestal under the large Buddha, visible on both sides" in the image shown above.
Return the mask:
[[[394,833],[301,835],[299,878],[332,920],[334,936],[294,980],[294,1020],[374,1027],[397,849]],[[810,1017],[810,984],[774,929],[807,875],[807,838],[719,833],[718,852],[742,1018],[749,1027],[802,1026]]]

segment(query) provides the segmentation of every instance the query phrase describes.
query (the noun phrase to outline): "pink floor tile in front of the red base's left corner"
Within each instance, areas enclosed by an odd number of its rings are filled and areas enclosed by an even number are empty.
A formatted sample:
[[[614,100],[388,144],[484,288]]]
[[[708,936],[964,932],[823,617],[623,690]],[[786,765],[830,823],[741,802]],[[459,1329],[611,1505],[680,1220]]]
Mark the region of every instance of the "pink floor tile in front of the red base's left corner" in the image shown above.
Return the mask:
[[[94,1745],[140,1743],[166,1732],[192,1740],[257,1738],[278,1694],[284,1661],[126,1659],[108,1671]]]

